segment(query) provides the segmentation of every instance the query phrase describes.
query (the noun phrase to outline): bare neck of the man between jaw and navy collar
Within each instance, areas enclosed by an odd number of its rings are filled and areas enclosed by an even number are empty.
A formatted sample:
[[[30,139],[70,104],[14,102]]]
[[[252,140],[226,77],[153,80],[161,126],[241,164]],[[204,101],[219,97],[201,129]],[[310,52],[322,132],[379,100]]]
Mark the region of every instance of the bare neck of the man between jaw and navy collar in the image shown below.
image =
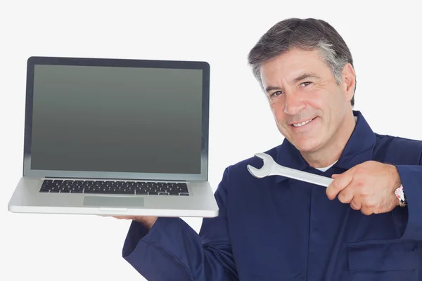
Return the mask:
[[[316,152],[301,153],[303,158],[308,162],[309,166],[314,168],[330,166],[340,158],[347,141],[352,135],[354,126],[356,126],[356,119],[353,112],[350,111],[331,141]]]

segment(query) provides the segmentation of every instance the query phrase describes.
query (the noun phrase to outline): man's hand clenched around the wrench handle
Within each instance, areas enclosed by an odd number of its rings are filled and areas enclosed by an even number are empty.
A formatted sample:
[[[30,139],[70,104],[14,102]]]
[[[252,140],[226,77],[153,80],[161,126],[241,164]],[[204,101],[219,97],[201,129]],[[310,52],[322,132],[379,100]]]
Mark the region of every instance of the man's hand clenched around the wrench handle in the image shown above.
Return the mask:
[[[394,192],[401,181],[396,167],[390,164],[367,161],[333,175],[333,179],[326,189],[328,199],[337,196],[362,214],[386,213],[399,205]]]

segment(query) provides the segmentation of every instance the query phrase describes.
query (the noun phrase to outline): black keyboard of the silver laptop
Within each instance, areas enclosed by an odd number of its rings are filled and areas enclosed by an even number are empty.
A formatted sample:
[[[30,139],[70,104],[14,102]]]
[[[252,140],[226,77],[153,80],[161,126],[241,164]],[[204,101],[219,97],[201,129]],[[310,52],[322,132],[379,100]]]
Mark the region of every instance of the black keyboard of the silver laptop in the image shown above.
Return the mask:
[[[186,183],[44,180],[39,192],[189,196]]]

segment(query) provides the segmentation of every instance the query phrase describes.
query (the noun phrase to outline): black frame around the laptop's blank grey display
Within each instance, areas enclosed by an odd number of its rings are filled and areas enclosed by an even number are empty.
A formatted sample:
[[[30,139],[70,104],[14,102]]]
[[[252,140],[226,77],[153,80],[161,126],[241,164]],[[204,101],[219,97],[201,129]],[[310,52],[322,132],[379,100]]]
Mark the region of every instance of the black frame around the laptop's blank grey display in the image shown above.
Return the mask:
[[[35,65],[79,65],[106,67],[151,67],[202,70],[202,133],[200,153],[200,174],[158,174],[101,171],[58,171],[31,169],[32,111],[34,98]],[[27,60],[27,81],[25,101],[25,139],[23,155],[23,176],[41,178],[108,178],[148,181],[207,181],[208,178],[208,134],[210,111],[210,65],[205,61],[181,60],[134,60],[122,58],[65,58],[32,56]]]

